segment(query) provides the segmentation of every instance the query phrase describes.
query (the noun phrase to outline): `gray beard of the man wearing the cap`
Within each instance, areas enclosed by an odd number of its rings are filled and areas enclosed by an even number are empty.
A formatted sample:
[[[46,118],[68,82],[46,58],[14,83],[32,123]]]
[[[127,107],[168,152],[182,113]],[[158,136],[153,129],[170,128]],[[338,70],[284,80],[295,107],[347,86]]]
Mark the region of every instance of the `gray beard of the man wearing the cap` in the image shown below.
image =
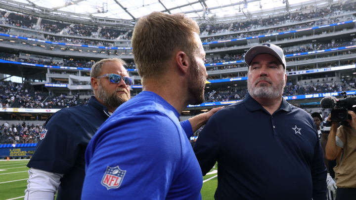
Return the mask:
[[[247,79],[247,90],[253,98],[266,98],[266,99],[275,99],[278,97],[281,97],[283,94],[283,89],[284,89],[284,82],[285,80],[283,79],[279,84],[277,85],[267,85],[269,83],[263,83],[265,85],[263,86],[256,86],[254,83],[249,81]]]

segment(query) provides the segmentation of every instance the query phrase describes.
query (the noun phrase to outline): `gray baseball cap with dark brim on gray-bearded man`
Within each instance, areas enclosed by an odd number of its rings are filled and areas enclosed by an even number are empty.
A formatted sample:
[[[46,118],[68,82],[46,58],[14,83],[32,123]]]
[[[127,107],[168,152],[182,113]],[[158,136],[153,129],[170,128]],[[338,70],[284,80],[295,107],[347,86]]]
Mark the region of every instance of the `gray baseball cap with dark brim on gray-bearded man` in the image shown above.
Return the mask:
[[[276,57],[279,62],[283,64],[284,69],[286,68],[286,61],[284,58],[283,49],[271,43],[264,43],[262,45],[251,47],[245,54],[245,63],[250,66],[250,63],[254,59],[254,57],[262,53],[268,53]]]

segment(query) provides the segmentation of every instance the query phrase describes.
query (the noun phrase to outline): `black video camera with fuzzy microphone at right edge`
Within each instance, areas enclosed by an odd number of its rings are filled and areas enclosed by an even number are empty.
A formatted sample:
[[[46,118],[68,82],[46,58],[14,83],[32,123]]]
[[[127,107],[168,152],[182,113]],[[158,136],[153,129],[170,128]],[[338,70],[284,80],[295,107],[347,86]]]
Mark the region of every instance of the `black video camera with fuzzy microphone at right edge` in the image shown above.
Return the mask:
[[[347,95],[346,91],[341,92],[344,98],[337,99],[332,96],[324,97],[320,101],[321,108],[331,108],[331,121],[343,122],[351,120],[348,110],[354,111],[356,106],[356,96]]]

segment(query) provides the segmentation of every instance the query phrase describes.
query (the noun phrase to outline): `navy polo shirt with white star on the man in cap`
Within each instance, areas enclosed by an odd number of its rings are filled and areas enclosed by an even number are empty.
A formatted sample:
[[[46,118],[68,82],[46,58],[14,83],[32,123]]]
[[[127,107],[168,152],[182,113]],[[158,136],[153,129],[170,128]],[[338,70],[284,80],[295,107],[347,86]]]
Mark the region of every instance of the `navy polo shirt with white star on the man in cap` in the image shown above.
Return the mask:
[[[284,99],[270,115],[249,94],[213,115],[195,155],[218,161],[216,200],[325,200],[326,167],[312,117]]]

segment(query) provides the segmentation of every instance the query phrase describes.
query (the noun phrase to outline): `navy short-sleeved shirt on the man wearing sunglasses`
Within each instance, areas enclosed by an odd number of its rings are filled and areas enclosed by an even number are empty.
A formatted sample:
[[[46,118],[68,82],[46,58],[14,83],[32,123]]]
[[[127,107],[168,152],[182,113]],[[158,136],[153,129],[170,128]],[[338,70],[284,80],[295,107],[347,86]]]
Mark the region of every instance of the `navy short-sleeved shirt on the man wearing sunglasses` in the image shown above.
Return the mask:
[[[108,115],[107,108],[92,96],[88,104],[61,109],[46,121],[45,135],[27,166],[64,174],[57,200],[81,198],[85,150]]]

